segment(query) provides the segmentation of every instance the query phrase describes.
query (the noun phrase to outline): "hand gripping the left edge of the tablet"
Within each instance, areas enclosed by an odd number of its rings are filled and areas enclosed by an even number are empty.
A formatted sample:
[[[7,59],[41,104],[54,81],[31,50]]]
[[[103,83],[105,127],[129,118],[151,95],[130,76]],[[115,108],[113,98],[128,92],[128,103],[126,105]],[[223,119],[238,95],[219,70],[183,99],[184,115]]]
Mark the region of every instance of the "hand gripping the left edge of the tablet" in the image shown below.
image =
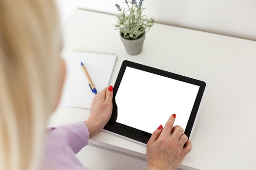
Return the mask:
[[[90,137],[98,134],[109,121],[113,109],[113,86],[104,88],[95,95],[90,109],[90,116],[85,120]]]

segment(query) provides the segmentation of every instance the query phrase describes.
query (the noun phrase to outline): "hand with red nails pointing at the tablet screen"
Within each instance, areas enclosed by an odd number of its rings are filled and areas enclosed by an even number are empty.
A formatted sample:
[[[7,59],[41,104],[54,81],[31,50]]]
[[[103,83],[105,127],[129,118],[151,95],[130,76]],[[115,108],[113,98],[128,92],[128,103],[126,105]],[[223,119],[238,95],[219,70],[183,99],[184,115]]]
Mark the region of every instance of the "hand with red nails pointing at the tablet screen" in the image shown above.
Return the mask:
[[[192,143],[180,126],[173,127],[173,114],[164,128],[160,125],[147,143],[147,170],[177,170],[183,158],[192,150]]]

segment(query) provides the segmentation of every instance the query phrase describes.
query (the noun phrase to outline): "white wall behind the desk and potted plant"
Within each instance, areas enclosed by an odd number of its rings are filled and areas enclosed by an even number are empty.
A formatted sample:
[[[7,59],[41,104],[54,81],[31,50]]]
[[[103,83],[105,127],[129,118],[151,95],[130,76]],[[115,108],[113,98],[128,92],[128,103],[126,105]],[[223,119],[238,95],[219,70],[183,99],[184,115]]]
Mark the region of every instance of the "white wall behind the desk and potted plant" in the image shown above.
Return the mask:
[[[80,8],[118,14],[123,0],[76,0]],[[256,40],[256,0],[145,0],[157,22]],[[100,22],[100,21],[99,21]]]

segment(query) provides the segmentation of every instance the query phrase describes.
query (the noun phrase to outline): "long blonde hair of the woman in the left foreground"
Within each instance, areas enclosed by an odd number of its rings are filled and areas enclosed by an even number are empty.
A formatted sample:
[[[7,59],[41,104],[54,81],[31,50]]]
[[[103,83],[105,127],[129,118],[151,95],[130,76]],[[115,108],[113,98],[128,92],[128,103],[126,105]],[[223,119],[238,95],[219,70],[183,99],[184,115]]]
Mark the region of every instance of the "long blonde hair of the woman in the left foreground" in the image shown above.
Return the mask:
[[[39,168],[59,46],[54,0],[0,0],[0,170]]]

